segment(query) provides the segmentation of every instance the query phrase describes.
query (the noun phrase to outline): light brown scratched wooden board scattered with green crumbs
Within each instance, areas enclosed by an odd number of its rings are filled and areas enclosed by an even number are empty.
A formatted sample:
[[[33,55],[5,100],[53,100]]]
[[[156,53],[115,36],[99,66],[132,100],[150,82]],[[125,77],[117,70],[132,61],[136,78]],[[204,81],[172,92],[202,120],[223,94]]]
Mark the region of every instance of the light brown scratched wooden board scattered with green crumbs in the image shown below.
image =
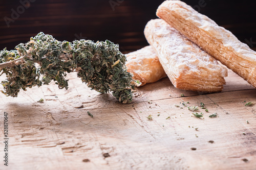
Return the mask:
[[[138,88],[131,104],[68,76],[68,90],[52,83],[18,98],[0,96],[0,169],[256,167],[256,105],[244,106],[244,101],[256,102],[256,90],[231,71],[221,93],[179,90],[165,78]],[[44,103],[37,102],[41,98]],[[203,102],[209,112],[200,108],[204,116],[197,118],[182,100],[188,106]],[[3,163],[4,112],[9,114],[8,167]],[[208,117],[215,112],[218,117]],[[152,120],[146,118],[150,114]]]

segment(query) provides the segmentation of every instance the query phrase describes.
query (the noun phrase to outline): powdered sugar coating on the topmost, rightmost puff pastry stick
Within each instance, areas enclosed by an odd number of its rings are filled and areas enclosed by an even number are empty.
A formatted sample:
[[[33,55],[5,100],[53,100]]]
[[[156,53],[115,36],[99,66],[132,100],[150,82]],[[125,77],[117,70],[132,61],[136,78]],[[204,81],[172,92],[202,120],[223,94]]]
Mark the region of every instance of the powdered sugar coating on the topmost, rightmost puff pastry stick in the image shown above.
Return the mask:
[[[256,64],[256,53],[247,44],[242,43],[230,31],[218,26],[215,21],[200,14],[184,2],[165,1],[159,6],[159,8],[161,7],[167,7],[169,10],[179,13],[185,20],[192,22],[198,28],[222,41],[223,45],[233,51],[237,56]]]

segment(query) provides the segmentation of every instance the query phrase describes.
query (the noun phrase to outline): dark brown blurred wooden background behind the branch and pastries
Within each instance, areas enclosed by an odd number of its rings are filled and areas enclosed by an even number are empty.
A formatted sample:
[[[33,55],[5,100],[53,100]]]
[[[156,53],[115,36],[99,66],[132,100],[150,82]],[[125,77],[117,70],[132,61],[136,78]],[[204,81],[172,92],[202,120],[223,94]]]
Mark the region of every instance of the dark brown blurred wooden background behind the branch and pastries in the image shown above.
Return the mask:
[[[146,46],[148,20],[163,0],[0,0],[0,49],[12,50],[38,32],[58,40],[111,40],[128,53]],[[256,50],[256,1],[183,1]]]

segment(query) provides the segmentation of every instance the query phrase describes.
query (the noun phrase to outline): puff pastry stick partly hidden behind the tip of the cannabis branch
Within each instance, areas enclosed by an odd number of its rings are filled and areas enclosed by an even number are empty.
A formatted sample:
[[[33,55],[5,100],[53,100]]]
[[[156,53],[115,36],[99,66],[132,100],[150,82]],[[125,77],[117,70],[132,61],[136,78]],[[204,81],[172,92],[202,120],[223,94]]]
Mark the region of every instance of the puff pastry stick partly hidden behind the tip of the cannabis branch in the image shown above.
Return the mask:
[[[163,67],[152,46],[145,46],[125,56],[127,58],[127,71],[133,74],[134,80],[141,82],[140,86],[146,83],[156,82],[166,77]]]

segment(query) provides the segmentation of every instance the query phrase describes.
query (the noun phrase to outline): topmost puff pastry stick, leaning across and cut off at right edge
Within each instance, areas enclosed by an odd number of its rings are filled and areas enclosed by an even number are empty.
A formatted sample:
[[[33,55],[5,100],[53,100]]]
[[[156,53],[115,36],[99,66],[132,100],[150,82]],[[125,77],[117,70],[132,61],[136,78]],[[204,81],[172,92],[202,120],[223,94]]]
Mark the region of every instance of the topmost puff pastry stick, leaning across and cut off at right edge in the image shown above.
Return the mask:
[[[157,16],[256,87],[256,52],[231,32],[181,1],[165,1]]]

